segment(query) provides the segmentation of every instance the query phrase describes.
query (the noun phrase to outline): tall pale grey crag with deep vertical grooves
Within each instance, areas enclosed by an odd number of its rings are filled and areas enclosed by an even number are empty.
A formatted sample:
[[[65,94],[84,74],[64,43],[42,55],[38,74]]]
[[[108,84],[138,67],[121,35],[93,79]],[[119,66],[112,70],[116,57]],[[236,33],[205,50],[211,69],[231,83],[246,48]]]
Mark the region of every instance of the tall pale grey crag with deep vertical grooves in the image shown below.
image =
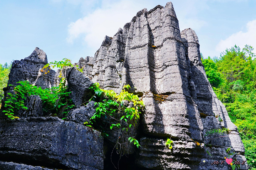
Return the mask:
[[[230,146],[232,152],[240,152],[240,161],[246,160],[237,128],[206,77],[198,37],[192,29],[180,32],[171,2],[139,11],[113,39],[105,37],[94,58],[81,58],[79,65],[105,89],[121,91],[129,84],[142,96],[146,112],[142,115],[139,167],[219,169],[210,163],[224,160]],[[206,136],[207,131],[222,127],[231,130],[227,137]],[[164,146],[167,137],[174,140],[172,151]],[[230,165],[222,165],[222,169],[230,169]],[[248,169],[247,164],[241,169]]]

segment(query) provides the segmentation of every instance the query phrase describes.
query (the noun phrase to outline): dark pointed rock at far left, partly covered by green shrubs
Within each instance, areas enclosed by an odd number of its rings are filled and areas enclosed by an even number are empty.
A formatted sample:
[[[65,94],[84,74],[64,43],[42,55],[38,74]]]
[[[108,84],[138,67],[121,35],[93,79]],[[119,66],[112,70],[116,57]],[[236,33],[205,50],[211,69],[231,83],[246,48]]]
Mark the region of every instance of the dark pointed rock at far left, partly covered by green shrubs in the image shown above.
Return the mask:
[[[14,94],[14,87],[19,85],[19,81],[28,81],[30,84],[35,86],[40,86],[42,89],[50,88],[57,85],[57,74],[54,70],[47,69],[47,74],[45,70],[42,72],[42,68],[47,64],[47,56],[43,50],[40,50],[38,47],[32,52],[32,54],[26,57],[24,60],[18,61],[15,60],[12,63],[12,68],[9,74],[9,81],[7,87],[4,88],[4,99],[2,103],[6,101],[7,93]],[[49,72],[48,72],[49,71]],[[14,85],[14,86],[9,86]],[[25,101],[26,107],[28,109],[24,111],[20,109],[15,112],[15,116],[18,117],[36,117],[43,116],[42,110],[42,101],[38,97],[27,97]],[[4,105],[1,108],[1,111],[4,109]],[[1,114],[1,118],[6,117]]]

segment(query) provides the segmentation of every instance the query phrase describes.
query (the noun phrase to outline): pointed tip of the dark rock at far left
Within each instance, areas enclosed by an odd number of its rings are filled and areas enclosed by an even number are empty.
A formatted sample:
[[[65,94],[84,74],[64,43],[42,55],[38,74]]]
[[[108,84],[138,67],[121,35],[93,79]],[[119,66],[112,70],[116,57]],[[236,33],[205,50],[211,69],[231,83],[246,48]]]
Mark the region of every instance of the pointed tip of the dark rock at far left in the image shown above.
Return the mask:
[[[40,50],[38,47],[34,49],[32,54],[28,57],[26,57],[24,60],[35,62],[35,63],[43,63],[47,64],[47,55],[43,50]]]

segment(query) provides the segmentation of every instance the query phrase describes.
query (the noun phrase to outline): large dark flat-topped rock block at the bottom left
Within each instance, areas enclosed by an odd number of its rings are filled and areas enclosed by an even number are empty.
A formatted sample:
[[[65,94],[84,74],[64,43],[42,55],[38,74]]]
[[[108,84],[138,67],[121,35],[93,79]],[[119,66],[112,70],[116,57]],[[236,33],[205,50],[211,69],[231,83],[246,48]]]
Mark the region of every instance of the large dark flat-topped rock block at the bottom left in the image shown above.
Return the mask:
[[[0,120],[0,159],[58,169],[103,169],[101,133],[57,117]]]

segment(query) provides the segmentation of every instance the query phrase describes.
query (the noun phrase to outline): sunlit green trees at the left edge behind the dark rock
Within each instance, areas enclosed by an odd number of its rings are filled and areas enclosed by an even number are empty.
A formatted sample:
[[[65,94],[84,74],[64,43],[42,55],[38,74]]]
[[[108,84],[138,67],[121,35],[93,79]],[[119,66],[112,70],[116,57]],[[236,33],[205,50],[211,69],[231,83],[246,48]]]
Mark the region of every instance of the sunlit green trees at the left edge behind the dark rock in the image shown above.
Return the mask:
[[[0,108],[1,108],[1,100],[4,98],[3,88],[7,86],[11,64],[10,65],[8,65],[7,63],[5,63],[4,65],[0,64]]]

